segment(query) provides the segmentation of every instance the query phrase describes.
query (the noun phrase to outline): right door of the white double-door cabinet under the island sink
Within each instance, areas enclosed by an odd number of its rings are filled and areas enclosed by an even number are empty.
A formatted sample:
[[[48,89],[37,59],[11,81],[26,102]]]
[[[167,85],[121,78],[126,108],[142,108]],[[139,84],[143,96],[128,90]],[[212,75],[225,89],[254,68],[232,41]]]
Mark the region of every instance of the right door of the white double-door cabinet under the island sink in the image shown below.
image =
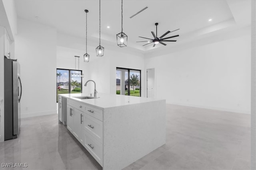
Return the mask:
[[[81,125],[81,114],[82,111],[75,109],[73,111],[73,135],[80,141],[81,137],[81,130],[80,130],[80,125]]]

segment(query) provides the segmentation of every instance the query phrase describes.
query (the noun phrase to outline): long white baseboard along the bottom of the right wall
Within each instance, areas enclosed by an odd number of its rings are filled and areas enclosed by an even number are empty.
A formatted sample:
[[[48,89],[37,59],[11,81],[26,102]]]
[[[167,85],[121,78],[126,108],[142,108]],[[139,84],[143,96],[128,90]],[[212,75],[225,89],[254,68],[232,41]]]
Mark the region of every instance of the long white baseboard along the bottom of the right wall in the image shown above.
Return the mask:
[[[189,107],[198,107],[202,109],[212,109],[212,110],[220,110],[220,111],[229,111],[234,113],[243,113],[243,114],[251,114],[250,110],[238,110],[238,109],[229,109],[229,108],[221,108],[221,107],[213,107],[213,106],[201,106],[201,105],[194,105],[194,104],[183,104],[183,103],[176,103],[176,102],[166,102],[166,104],[175,104],[180,106],[189,106]]]

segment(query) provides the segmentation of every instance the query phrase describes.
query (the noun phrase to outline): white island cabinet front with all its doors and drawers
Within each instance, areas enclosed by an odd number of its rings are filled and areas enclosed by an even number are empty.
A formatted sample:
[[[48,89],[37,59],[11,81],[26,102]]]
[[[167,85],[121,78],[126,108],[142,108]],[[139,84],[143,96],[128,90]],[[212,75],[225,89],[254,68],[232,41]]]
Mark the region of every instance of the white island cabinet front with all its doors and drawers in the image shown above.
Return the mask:
[[[68,130],[102,166],[103,111],[96,107],[68,99],[67,113]]]

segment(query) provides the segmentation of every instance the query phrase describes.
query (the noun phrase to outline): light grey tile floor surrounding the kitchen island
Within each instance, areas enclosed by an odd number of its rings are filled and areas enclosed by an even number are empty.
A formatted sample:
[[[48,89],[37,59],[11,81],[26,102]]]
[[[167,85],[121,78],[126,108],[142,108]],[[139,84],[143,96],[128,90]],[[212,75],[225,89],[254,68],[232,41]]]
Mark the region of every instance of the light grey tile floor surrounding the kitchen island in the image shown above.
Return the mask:
[[[24,170],[102,169],[57,120],[56,114],[22,119],[20,136],[0,143],[0,163],[27,163]],[[249,169],[250,115],[170,104],[166,105],[166,145],[124,168]]]

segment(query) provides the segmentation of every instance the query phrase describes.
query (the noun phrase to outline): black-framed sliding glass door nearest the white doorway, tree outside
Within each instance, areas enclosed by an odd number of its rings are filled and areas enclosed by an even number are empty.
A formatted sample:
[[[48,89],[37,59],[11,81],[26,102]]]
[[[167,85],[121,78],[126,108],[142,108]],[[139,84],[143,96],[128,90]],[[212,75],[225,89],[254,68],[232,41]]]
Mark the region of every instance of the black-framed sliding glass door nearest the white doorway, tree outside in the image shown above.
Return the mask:
[[[140,70],[116,68],[116,94],[141,96]]]

